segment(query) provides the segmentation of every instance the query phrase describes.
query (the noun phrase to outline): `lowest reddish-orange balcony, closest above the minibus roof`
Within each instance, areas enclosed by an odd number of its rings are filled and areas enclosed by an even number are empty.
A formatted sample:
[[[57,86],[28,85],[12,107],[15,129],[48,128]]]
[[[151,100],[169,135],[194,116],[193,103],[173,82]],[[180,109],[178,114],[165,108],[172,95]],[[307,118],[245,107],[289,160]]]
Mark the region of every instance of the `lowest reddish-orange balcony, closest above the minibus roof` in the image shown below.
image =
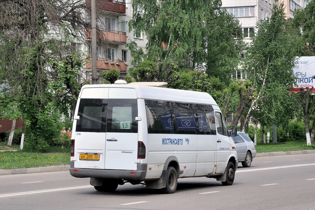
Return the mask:
[[[86,68],[92,68],[92,62],[86,63]],[[127,71],[127,65],[123,60],[106,60],[103,58],[98,58],[96,61],[96,68],[103,70],[111,70],[112,68],[116,68],[118,71]]]

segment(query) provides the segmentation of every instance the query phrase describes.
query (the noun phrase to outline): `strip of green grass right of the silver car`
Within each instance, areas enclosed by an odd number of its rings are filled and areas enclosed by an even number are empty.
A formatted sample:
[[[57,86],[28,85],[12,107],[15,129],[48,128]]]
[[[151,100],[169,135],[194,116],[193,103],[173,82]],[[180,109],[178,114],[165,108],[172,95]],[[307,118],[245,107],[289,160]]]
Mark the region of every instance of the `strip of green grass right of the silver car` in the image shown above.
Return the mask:
[[[260,143],[258,142],[255,146],[257,153],[264,152],[288,152],[288,151],[300,151],[300,150],[315,150],[315,143],[312,142],[311,146],[306,146],[306,140],[300,139],[288,142],[279,143]]]

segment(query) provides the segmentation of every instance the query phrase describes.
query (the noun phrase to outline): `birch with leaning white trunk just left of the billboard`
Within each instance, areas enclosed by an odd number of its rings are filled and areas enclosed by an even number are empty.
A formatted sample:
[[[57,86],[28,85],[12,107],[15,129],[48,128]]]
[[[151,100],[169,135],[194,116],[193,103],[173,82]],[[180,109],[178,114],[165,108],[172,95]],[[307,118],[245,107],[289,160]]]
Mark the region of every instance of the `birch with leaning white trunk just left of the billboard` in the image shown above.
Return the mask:
[[[247,111],[245,122],[249,122],[251,111],[260,108],[266,104],[266,101],[278,100],[278,93],[286,93],[294,83],[292,68],[294,67],[295,56],[301,52],[301,36],[298,30],[294,30],[289,25],[289,21],[284,18],[284,4],[274,4],[271,18],[261,21],[257,25],[258,33],[252,38],[252,43],[247,51],[244,60],[244,70],[249,80],[253,83],[252,88],[256,90],[256,96],[251,101]],[[282,88],[285,92],[278,92]],[[270,103],[273,106],[267,109],[275,109],[279,103]],[[266,112],[261,113],[263,117]],[[274,114],[271,116],[270,114]],[[278,123],[279,112],[269,111],[268,123]],[[274,120],[271,120],[274,119]]]

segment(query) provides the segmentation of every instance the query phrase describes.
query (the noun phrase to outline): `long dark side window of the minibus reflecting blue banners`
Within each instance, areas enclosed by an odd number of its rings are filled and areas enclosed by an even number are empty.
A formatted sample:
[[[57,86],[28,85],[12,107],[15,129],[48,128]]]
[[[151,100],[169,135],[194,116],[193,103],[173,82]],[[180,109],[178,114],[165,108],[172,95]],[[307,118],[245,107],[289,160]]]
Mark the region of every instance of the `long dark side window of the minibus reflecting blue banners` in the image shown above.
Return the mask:
[[[145,100],[148,133],[215,134],[211,105]]]

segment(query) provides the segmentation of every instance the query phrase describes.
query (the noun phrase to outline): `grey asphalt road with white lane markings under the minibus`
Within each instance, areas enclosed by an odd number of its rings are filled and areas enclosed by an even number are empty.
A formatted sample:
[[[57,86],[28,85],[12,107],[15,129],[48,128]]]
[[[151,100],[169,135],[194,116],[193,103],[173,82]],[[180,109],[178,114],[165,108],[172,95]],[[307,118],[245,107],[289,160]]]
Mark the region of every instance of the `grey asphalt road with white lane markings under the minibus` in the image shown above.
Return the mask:
[[[119,185],[112,193],[98,192],[89,178],[68,171],[0,176],[0,208],[10,210],[204,210],[315,209],[315,153],[254,158],[239,164],[234,184],[209,178],[178,180],[174,194],[142,185]]]

